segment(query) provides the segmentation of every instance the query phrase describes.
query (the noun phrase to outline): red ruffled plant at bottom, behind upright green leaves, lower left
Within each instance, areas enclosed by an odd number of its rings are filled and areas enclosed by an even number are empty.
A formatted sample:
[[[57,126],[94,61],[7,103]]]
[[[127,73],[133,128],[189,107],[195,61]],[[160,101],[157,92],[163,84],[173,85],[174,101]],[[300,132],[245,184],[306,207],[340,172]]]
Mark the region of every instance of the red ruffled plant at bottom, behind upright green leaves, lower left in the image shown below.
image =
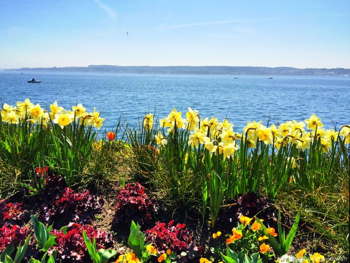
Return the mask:
[[[98,230],[96,227],[70,223],[66,233],[57,230],[51,232],[57,236],[55,239],[57,245],[52,247],[49,253],[57,249],[57,259],[62,259],[62,262],[91,262],[83,237],[83,229],[90,240],[95,238],[96,250],[111,248],[115,242],[112,235],[106,231]]]

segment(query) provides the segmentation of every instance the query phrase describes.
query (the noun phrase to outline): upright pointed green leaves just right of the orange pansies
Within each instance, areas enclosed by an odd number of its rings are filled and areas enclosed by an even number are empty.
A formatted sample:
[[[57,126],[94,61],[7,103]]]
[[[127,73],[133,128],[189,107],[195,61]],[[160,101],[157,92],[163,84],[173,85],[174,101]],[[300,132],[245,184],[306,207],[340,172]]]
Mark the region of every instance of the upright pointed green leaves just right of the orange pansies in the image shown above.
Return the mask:
[[[278,211],[278,237],[279,240],[277,240],[274,236],[267,233],[267,228],[264,226],[264,224],[261,222],[260,219],[255,218],[258,223],[261,224],[261,229],[264,231],[264,234],[268,237],[268,241],[273,247],[275,253],[279,256],[283,256],[288,252],[288,249],[293,242],[293,239],[295,237],[295,234],[297,233],[299,220],[300,220],[300,213],[297,214],[295,221],[293,223],[293,226],[291,227],[288,236],[285,237],[285,231],[284,228],[282,229],[281,224],[281,210]]]

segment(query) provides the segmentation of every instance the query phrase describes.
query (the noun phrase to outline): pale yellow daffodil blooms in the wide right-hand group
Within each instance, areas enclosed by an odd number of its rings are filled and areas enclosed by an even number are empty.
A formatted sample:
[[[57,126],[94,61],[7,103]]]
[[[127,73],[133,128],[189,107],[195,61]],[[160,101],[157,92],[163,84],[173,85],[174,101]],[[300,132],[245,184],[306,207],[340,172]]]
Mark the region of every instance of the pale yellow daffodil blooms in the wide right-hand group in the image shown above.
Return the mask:
[[[145,119],[148,116],[146,115]],[[265,144],[274,144],[277,149],[280,149],[282,144],[295,144],[296,148],[305,151],[315,138],[320,138],[323,152],[327,153],[332,145],[332,140],[336,141],[338,135],[343,137],[345,144],[350,143],[350,125],[344,125],[340,133],[334,129],[325,130],[321,118],[318,118],[315,114],[304,122],[293,120],[281,123],[278,126],[271,124],[270,127],[264,126],[262,121],[248,121],[243,128],[243,133],[235,133],[234,124],[229,123],[227,119],[222,122],[219,122],[215,117],[203,119],[200,118],[198,110],[192,110],[190,107],[188,107],[186,117],[187,120],[182,118],[180,111],[173,108],[167,117],[160,120],[160,126],[161,128],[168,128],[168,134],[172,132],[175,125],[178,128],[188,129],[191,132],[188,143],[192,147],[197,148],[200,144],[204,144],[210,153],[218,151],[219,154],[223,154],[224,159],[235,155],[239,148],[236,141],[245,139],[245,135],[247,135],[249,148],[254,148],[259,139]],[[145,127],[151,126],[145,123]],[[153,125],[153,115],[151,116],[151,124]],[[305,126],[307,130],[305,130]],[[166,138],[160,133],[155,139],[159,145],[166,144]],[[218,139],[220,142],[218,142]],[[293,160],[292,165],[295,167]]]

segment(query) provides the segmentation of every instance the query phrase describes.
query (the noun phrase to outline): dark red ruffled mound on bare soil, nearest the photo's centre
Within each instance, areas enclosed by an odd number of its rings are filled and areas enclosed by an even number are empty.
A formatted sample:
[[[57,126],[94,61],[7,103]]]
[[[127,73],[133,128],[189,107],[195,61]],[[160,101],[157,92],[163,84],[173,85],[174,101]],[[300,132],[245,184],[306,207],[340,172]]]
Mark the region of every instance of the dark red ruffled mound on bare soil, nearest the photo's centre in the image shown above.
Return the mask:
[[[140,225],[151,220],[157,211],[157,203],[148,197],[145,187],[139,183],[126,184],[117,197],[114,223],[130,224],[132,220]]]

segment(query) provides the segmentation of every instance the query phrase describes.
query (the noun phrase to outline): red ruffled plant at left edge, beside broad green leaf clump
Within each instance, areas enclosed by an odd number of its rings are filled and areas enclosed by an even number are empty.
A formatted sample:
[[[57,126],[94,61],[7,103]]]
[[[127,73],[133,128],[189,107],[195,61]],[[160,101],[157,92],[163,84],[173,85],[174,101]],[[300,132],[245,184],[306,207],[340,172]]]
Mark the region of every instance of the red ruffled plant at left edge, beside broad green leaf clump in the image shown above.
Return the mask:
[[[25,239],[29,235],[29,230],[26,227],[21,228],[16,224],[14,226],[4,224],[0,228],[0,254],[6,249],[10,243],[17,248],[22,241],[24,243]]]

